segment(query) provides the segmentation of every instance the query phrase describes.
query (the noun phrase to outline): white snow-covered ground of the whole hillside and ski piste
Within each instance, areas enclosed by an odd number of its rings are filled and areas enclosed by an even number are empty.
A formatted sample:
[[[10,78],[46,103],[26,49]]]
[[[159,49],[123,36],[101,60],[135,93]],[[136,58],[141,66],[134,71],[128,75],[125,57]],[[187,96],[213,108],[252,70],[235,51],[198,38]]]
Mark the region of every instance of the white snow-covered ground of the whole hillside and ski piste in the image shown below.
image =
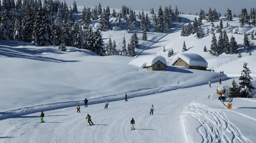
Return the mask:
[[[204,45],[209,50],[211,34],[203,39],[180,36],[181,25],[194,19],[182,17],[183,23],[173,23],[169,33],[151,32],[148,42],[140,40],[138,57],[163,56],[169,65],[175,55],[168,57],[162,48],[182,53],[186,41],[185,53],[205,58],[208,71],[170,65],[166,71],[149,71],[129,65],[135,57],[101,57],[74,47],[61,52],[56,46],[0,41],[0,142],[256,142],[256,99],[235,98],[232,109],[226,109],[216,94],[219,77],[223,86],[230,87],[233,79],[239,82],[244,62],[249,63],[256,87],[255,44],[251,56],[240,48],[241,58],[237,54],[213,57],[203,52]],[[238,19],[230,25],[239,25]],[[204,28],[210,26],[205,23]],[[243,35],[231,35],[242,47]],[[103,32],[104,41],[115,39],[119,48],[123,36],[129,42],[126,30]],[[82,107],[84,98],[89,99],[88,108]],[[103,109],[107,99],[109,108]],[[76,113],[77,104],[81,113]],[[155,110],[150,116],[152,104]],[[47,123],[37,123],[41,111]],[[87,114],[95,126],[87,126]],[[131,118],[134,131],[130,131]]]

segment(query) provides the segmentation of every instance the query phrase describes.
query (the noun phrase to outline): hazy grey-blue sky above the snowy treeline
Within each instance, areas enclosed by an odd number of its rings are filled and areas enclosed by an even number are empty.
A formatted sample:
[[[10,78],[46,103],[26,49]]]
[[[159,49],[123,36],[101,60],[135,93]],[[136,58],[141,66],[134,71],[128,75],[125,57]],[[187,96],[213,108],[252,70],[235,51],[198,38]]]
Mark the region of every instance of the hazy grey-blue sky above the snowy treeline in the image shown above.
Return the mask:
[[[66,0],[66,3],[72,5],[73,1],[74,0]],[[189,12],[192,14],[195,12],[199,13],[200,8],[208,12],[209,7],[212,7],[216,8],[217,12],[223,15],[229,7],[232,13],[238,15],[242,8],[247,8],[248,12],[250,12],[251,7],[256,8],[256,0],[76,0],[76,4],[82,6],[95,6],[98,5],[99,2],[102,7],[110,6],[110,8],[121,8],[122,5],[126,5],[133,10],[144,9],[145,11],[149,11],[151,7],[153,7],[155,11],[158,11],[160,5],[162,9],[168,5],[171,5],[172,9],[175,9],[177,5],[178,10],[186,14]]]

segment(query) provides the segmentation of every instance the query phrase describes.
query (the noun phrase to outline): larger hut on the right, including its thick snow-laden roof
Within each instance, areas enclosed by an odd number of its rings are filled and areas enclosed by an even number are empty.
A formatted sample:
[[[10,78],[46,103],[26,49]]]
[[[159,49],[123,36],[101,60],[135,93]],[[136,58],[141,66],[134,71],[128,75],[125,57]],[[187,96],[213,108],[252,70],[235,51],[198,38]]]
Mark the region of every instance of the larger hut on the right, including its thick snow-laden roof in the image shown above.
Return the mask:
[[[182,53],[170,62],[170,65],[178,65],[187,67],[188,69],[206,70],[208,63],[207,61],[195,53]]]

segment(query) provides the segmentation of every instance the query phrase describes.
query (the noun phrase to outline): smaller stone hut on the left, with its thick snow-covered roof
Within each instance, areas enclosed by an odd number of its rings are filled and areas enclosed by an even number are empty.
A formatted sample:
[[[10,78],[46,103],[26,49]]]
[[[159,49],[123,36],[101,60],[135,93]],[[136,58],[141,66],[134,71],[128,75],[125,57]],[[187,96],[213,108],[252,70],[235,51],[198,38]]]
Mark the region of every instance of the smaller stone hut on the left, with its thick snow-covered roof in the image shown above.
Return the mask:
[[[148,70],[165,70],[165,68],[167,67],[165,58],[155,55],[135,58],[129,64],[141,68],[146,68]]]

